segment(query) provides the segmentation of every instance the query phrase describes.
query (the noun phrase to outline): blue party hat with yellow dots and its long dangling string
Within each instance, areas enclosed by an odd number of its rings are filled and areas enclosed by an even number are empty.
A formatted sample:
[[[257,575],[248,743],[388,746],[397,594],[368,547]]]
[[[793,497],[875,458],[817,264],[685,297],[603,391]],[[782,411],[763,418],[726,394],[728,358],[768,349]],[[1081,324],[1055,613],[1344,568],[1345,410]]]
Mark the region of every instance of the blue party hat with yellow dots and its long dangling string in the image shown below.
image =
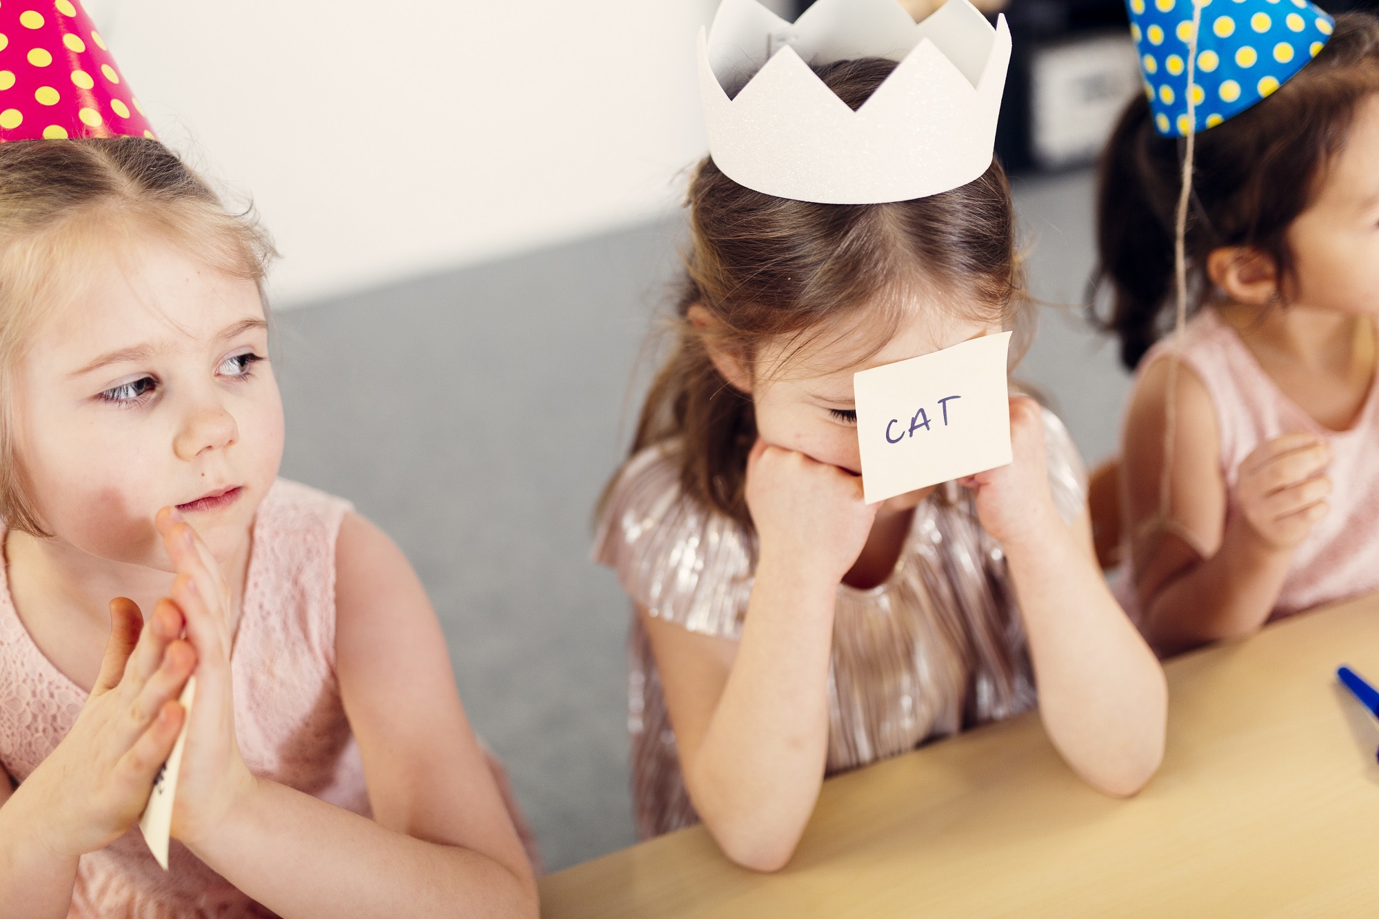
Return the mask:
[[[1182,178],[1174,213],[1174,348],[1165,381],[1164,468],[1158,513],[1145,524],[1146,531],[1157,533],[1176,526],[1169,505],[1178,377],[1187,326],[1187,208],[1197,132],[1222,124],[1276,92],[1317,57],[1335,26],[1331,15],[1307,0],[1231,0],[1208,17],[1204,8],[1211,3],[1191,0],[1191,18],[1183,19],[1179,0],[1127,0],[1129,32],[1154,128],[1164,137],[1183,138]],[[1204,19],[1209,25],[1205,33],[1201,29]],[[1201,126],[1198,106],[1208,112]]]

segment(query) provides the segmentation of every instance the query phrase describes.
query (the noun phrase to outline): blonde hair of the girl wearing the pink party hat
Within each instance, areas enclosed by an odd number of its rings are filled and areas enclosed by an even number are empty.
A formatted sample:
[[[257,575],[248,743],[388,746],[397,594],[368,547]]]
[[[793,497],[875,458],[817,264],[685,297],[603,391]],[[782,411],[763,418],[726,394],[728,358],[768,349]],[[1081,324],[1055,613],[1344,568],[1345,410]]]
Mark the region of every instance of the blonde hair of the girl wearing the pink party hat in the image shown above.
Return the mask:
[[[157,141],[102,138],[0,144],[0,517],[48,535],[15,450],[11,373],[33,330],[73,293],[94,247],[128,247],[135,230],[259,284],[276,254],[252,211],[234,214]]]

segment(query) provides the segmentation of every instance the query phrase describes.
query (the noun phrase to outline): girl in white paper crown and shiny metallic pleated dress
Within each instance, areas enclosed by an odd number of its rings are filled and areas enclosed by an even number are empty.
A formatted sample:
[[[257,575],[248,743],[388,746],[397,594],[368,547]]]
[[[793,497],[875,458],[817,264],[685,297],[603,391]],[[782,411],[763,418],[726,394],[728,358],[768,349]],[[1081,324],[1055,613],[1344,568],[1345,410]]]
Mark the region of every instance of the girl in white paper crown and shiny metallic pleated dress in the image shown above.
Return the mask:
[[[917,32],[892,0],[843,3],[858,30],[841,44],[870,30],[877,54],[914,48],[898,69],[829,59],[811,28],[843,21],[837,6],[792,28],[729,0],[703,46],[712,156],[690,186],[676,345],[596,549],[636,607],[641,835],[702,820],[760,871],[790,858],[825,775],[1036,701],[1107,793],[1136,792],[1164,745],[1162,672],[1100,577],[1083,464],[1052,414],[1014,397],[1012,464],[863,502],[854,371],[1025,312],[992,160],[1004,21],[950,0]],[[735,55],[768,44],[734,29],[761,22],[789,44],[769,83],[729,98],[720,86],[763,65]],[[964,98],[923,105],[934,86]]]

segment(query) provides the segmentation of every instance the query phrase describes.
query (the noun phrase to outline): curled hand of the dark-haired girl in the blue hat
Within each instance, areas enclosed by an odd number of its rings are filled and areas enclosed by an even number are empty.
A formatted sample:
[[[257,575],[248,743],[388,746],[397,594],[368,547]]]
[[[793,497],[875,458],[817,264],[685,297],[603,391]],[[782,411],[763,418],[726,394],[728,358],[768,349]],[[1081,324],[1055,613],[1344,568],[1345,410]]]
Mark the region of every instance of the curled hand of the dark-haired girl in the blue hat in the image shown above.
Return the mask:
[[[1271,549],[1292,549],[1327,516],[1331,462],[1325,440],[1289,433],[1255,447],[1236,471],[1236,501],[1251,531]]]

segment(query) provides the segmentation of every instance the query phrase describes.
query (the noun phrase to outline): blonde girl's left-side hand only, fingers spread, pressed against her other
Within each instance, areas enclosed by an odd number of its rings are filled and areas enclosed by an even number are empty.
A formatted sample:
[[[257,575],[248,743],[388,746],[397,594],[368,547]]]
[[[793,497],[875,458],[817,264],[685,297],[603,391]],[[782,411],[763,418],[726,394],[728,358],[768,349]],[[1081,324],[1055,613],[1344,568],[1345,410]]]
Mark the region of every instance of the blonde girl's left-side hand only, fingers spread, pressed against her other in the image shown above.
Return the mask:
[[[33,802],[54,856],[103,849],[143,813],[182,729],[177,698],[196,666],[192,646],[178,639],[182,625],[172,607],[145,624],[132,600],[110,600],[110,640],[91,695],[17,792]]]

